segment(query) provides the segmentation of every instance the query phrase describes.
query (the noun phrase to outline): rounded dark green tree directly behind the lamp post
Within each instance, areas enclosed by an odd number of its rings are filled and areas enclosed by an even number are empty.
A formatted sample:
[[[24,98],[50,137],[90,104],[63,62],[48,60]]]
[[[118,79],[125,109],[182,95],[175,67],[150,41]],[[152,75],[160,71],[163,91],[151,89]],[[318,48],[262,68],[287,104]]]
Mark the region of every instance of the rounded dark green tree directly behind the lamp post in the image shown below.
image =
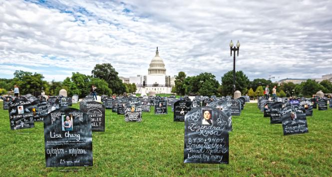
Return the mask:
[[[221,77],[222,82],[222,94],[225,95],[233,95],[233,71],[228,71]],[[241,93],[247,93],[249,86],[249,79],[248,77],[242,72],[237,71],[235,73],[235,87],[237,90],[240,90]]]

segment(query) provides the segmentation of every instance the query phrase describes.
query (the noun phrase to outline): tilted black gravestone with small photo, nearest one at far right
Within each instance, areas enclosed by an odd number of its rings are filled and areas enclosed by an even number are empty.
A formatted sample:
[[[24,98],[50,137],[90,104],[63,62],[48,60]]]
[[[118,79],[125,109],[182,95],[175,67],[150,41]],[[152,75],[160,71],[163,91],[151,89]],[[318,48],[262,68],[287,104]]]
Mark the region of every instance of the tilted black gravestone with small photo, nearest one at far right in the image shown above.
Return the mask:
[[[286,105],[281,113],[284,135],[308,133],[306,113],[302,106]]]

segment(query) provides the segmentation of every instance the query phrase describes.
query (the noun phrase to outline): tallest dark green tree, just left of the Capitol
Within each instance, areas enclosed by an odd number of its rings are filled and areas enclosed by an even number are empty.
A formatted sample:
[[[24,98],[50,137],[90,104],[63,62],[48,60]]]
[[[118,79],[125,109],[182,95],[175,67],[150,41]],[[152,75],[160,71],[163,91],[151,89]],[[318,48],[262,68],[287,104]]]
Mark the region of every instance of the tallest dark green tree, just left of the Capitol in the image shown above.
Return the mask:
[[[110,63],[96,64],[91,73],[93,77],[105,80],[113,93],[122,94],[128,91]]]

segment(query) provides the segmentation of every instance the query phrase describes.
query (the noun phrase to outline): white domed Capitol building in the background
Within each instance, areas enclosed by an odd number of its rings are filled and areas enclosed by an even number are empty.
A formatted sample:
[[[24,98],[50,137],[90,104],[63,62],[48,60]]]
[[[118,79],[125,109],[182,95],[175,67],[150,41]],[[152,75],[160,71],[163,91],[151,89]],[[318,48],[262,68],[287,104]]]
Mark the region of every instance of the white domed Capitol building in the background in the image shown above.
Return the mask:
[[[166,75],[165,64],[159,56],[158,47],[156,55],[152,58],[149,66],[147,76],[137,75],[136,77],[129,78],[119,76],[119,78],[123,83],[134,83],[137,88],[136,93],[142,95],[146,95],[150,91],[155,91],[155,93],[171,93],[172,87],[175,85],[175,76]]]

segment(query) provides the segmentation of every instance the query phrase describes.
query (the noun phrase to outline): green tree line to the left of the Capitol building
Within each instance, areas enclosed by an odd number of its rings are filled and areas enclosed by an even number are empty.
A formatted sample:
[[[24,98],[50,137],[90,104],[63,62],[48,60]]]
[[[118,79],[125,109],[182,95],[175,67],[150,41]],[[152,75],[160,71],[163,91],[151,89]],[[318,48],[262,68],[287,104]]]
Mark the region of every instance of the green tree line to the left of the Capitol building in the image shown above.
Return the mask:
[[[90,94],[92,85],[97,87],[97,93],[100,95],[120,95],[124,92],[133,93],[136,91],[135,84],[122,83],[118,77],[118,72],[110,63],[96,64],[91,75],[73,72],[71,77],[66,77],[63,81],[47,82],[43,79],[43,75],[39,73],[15,71],[12,79],[0,78],[0,95],[11,91],[14,85],[19,86],[21,95],[41,90],[46,95],[58,95],[61,89],[65,89],[68,96],[76,94],[79,97],[85,97]]]

